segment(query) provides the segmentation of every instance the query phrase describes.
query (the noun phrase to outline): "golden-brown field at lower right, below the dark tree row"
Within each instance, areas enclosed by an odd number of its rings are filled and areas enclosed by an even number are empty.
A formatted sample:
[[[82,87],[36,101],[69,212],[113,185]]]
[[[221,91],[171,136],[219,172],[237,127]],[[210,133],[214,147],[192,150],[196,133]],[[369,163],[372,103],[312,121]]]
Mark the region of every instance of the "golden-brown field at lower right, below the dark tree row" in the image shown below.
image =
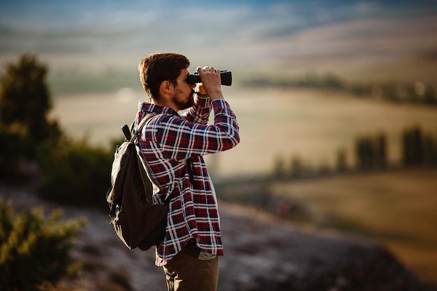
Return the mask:
[[[437,283],[437,169],[276,182],[273,192],[302,204],[316,225],[380,241]]]

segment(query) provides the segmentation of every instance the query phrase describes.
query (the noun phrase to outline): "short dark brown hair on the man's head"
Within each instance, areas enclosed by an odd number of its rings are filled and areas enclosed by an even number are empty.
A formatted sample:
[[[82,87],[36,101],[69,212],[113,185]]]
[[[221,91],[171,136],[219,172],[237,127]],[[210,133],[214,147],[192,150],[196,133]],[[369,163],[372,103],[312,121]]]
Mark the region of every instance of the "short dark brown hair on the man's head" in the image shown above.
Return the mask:
[[[181,70],[188,68],[190,61],[182,54],[172,52],[151,54],[141,59],[138,65],[140,80],[149,98],[159,98],[159,87],[164,81],[177,85]]]

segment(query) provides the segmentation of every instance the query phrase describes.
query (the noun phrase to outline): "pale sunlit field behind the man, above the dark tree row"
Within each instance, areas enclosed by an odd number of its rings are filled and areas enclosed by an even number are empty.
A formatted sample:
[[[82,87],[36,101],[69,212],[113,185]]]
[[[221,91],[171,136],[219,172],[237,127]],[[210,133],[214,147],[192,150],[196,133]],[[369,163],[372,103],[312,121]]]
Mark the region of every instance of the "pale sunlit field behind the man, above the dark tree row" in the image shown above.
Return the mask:
[[[336,91],[225,88],[237,114],[241,142],[230,151],[206,158],[216,175],[264,174],[281,158],[293,157],[317,169],[334,167],[336,153],[346,150],[355,165],[359,135],[387,135],[390,161],[401,158],[401,134],[411,126],[437,134],[437,107],[395,104],[357,98]],[[114,94],[63,96],[55,99],[53,116],[67,133],[108,146],[131,124],[145,94],[129,89]]]

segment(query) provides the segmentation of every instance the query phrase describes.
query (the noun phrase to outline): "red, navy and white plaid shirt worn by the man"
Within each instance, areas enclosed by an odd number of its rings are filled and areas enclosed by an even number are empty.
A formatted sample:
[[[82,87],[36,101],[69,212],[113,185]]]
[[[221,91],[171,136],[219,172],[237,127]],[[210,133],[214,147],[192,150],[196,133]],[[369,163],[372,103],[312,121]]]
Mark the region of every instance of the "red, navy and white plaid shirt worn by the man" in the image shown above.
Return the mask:
[[[211,108],[214,125],[208,126]],[[150,112],[157,115],[142,129],[137,149],[154,187],[154,203],[163,204],[172,195],[155,264],[166,264],[190,239],[207,253],[223,255],[216,195],[202,156],[239,143],[234,112],[225,100],[210,102],[195,96],[195,105],[182,116],[170,107],[139,103],[136,124]],[[191,158],[193,184],[187,158]]]

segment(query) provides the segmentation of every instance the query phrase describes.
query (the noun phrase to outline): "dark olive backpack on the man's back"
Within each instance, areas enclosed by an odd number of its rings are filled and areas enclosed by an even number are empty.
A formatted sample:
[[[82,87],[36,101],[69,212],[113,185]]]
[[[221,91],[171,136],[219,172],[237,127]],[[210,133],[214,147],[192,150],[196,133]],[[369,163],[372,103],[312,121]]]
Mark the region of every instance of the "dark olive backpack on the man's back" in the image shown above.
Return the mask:
[[[147,114],[136,130],[134,124],[131,129],[127,124],[121,128],[126,140],[121,146],[117,146],[114,153],[111,187],[106,195],[110,207],[110,224],[114,226],[118,237],[128,248],[138,247],[142,251],[147,251],[163,239],[170,201],[168,198],[165,204],[153,204],[147,200],[135,149],[135,139],[154,115]]]

